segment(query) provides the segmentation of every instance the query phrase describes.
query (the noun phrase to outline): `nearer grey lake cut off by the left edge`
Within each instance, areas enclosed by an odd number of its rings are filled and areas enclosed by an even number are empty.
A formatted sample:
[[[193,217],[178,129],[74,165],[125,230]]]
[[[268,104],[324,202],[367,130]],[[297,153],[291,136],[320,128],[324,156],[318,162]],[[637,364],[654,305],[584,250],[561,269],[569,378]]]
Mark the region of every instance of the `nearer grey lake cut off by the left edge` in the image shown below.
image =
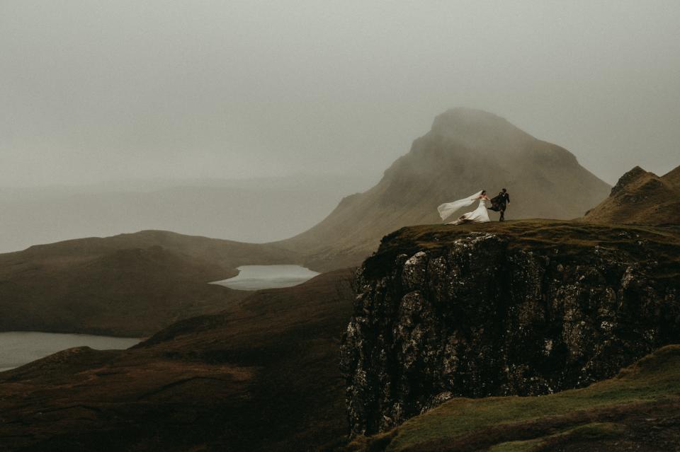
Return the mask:
[[[54,332],[0,332],[0,372],[71,347],[127,349],[140,342],[135,337],[71,335]]]

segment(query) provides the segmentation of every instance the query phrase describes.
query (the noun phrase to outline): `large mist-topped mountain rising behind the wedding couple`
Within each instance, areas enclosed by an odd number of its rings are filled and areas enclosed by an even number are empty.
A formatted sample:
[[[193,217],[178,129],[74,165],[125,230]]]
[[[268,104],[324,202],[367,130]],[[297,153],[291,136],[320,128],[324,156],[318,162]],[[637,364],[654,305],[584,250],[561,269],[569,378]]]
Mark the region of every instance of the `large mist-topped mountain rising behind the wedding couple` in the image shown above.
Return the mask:
[[[455,108],[436,117],[378,185],[344,198],[322,222],[282,244],[312,255],[309,265],[355,265],[390,231],[441,223],[439,204],[482,189],[492,197],[504,187],[511,198],[506,219],[577,218],[609,190],[570,151],[492,113]]]

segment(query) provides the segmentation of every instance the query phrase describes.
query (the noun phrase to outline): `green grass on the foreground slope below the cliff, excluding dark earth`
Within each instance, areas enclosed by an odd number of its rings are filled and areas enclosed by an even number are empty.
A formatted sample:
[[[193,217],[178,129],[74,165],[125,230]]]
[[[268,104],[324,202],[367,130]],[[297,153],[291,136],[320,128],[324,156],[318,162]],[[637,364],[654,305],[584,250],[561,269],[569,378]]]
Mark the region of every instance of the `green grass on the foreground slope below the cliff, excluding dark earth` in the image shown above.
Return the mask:
[[[557,433],[563,435],[562,439],[567,436],[571,439],[616,436],[621,433],[621,427],[606,422],[593,423],[589,419],[596,419],[615,407],[617,410],[635,411],[637,406],[662,401],[678,402],[679,398],[680,345],[670,345],[623,369],[615,378],[588,388],[542,397],[450,400],[385,434],[356,439],[348,450],[459,450],[441,448],[441,444],[456,444],[457,441],[485,444],[485,439],[494,438],[501,429],[504,433],[497,435],[499,441],[492,441],[492,444],[487,441],[484,448],[493,447],[490,450],[496,452],[533,451],[556,436],[554,433],[542,434],[543,429],[536,428],[533,437],[526,438],[526,427],[531,424],[549,424],[548,430],[561,427]],[[379,448],[376,447],[378,444]]]

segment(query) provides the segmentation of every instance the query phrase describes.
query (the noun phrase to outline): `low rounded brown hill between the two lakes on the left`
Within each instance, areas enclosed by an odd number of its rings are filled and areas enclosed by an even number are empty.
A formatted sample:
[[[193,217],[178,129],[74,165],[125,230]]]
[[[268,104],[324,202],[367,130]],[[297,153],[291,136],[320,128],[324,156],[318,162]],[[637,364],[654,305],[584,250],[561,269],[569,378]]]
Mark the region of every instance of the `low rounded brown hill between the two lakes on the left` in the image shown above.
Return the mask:
[[[244,292],[208,282],[247,264],[300,262],[274,245],[142,231],[0,255],[0,331],[149,335]]]

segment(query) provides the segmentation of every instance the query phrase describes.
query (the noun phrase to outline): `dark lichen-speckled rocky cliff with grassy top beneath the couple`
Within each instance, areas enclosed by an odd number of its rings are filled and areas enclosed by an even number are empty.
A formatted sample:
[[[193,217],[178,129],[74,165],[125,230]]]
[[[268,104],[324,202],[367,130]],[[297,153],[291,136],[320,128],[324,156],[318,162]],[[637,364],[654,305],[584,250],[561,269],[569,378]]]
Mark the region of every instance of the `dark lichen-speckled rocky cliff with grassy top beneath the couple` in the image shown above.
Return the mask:
[[[404,228],[358,270],[341,352],[355,434],[452,397],[587,386],[680,340],[680,233],[526,221]]]

